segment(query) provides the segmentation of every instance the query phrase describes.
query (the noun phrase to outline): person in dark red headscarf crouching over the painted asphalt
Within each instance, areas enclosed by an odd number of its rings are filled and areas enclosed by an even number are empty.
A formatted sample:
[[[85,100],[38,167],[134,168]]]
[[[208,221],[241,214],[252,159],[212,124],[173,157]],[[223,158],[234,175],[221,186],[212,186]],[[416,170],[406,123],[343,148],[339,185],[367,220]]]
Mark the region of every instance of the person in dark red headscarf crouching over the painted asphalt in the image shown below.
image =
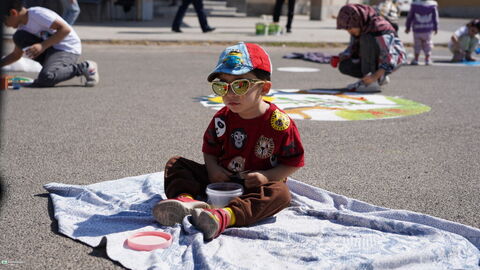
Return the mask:
[[[390,22],[372,7],[343,6],[337,16],[337,29],[350,34],[350,43],[340,53],[341,73],[360,78],[347,86],[359,92],[378,92],[389,82],[388,75],[406,61],[405,48]]]

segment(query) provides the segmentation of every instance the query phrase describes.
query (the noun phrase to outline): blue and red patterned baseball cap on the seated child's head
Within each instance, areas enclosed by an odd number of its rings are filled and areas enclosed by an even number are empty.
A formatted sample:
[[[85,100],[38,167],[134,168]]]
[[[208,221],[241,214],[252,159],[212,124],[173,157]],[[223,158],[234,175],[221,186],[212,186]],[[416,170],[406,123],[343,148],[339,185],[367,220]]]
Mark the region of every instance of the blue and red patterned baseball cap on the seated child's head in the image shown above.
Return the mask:
[[[208,75],[207,80],[213,81],[220,73],[242,75],[254,69],[261,69],[271,74],[270,57],[258,44],[239,42],[220,54],[217,66]]]

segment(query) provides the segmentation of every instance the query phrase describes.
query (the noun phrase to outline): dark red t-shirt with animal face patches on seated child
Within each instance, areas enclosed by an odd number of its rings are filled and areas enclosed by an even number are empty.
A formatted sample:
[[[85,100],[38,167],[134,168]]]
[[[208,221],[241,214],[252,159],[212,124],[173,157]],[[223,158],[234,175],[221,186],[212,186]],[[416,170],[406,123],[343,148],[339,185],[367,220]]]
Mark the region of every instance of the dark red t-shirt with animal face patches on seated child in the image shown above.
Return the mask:
[[[275,104],[261,116],[243,119],[223,107],[203,136],[202,151],[231,172],[268,170],[277,164],[302,167],[303,145],[295,122]]]

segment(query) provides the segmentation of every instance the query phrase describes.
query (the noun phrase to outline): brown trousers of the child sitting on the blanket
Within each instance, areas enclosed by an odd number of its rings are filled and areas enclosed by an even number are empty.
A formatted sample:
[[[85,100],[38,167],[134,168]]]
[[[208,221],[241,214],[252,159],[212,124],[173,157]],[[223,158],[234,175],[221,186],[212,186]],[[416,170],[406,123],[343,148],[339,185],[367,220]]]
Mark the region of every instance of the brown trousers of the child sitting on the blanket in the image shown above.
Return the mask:
[[[181,193],[194,197],[206,196],[210,184],[207,168],[203,164],[182,157],[172,157],[165,166],[165,194],[175,198]],[[290,205],[290,190],[283,181],[270,181],[265,185],[245,188],[244,194],[230,201],[235,213],[235,226],[247,226],[271,217]]]

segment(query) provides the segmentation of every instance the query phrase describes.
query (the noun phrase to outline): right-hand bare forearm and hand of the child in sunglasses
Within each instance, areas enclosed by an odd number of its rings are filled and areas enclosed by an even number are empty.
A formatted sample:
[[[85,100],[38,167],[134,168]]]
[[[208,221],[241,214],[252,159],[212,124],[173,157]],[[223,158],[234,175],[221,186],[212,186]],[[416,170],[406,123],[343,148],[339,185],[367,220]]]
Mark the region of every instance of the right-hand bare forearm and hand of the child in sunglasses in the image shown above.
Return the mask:
[[[266,184],[268,181],[282,181],[298,169],[300,169],[300,167],[280,164],[266,171],[249,172],[245,174],[245,187],[258,187]]]

